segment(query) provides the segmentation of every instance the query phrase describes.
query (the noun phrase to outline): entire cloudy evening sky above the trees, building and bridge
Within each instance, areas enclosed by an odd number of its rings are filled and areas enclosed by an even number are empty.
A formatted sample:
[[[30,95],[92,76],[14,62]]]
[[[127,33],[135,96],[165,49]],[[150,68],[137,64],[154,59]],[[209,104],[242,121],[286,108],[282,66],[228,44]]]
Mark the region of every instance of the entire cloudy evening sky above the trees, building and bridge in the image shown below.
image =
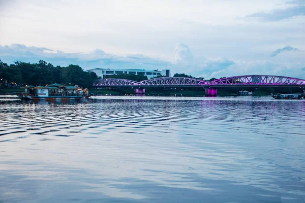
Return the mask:
[[[305,79],[305,0],[0,0],[0,59]]]

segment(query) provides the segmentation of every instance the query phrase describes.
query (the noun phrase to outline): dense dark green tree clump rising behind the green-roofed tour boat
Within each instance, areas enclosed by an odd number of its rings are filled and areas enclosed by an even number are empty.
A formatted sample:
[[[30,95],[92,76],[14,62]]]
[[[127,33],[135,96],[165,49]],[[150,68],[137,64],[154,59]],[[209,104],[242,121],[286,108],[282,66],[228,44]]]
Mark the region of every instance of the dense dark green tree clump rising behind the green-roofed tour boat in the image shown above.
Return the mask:
[[[44,60],[38,63],[16,61],[8,65],[0,60],[0,87],[46,85],[52,83],[89,87],[99,77],[79,65],[54,66]]]

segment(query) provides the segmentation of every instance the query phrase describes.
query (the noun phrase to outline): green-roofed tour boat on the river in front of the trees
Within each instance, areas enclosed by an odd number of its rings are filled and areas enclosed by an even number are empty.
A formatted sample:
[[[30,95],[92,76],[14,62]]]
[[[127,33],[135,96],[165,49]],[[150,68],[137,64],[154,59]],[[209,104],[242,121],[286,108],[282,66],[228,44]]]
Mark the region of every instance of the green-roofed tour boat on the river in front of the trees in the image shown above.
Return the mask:
[[[75,86],[65,86],[62,84],[51,84],[46,86],[25,86],[21,87],[25,92],[15,92],[24,100],[79,100],[89,98],[93,94],[88,94],[88,89]]]

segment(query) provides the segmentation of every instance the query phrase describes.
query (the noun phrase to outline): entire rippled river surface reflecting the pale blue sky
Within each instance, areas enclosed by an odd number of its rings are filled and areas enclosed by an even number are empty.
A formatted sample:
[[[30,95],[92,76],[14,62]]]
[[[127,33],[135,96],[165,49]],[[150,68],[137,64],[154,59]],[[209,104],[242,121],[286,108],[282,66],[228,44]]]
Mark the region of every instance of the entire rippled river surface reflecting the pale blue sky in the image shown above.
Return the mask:
[[[304,101],[0,100],[0,121],[0,202],[304,202]]]

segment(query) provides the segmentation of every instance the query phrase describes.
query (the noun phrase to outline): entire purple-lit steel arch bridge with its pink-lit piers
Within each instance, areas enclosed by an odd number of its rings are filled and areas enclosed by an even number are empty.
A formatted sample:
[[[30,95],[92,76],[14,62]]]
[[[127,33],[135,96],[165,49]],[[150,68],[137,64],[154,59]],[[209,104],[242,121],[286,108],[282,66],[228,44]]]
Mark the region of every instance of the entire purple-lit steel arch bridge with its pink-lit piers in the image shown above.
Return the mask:
[[[283,87],[300,86],[305,87],[305,80],[284,76],[234,76],[229,78],[217,79],[214,81],[200,80],[195,78],[163,77],[151,78],[141,82],[126,79],[100,79],[93,87],[133,87],[136,93],[145,93],[145,87],[202,87],[207,95],[217,95],[217,87]]]

